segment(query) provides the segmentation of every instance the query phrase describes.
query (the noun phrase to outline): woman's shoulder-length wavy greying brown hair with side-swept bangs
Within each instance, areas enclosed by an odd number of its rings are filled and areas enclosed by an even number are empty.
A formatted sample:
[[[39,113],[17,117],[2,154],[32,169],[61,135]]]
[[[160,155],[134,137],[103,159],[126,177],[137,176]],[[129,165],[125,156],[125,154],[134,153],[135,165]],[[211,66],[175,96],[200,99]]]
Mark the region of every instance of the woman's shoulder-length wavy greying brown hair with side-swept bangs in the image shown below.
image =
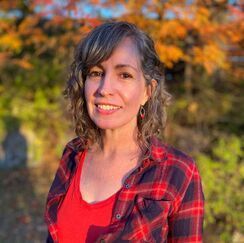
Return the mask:
[[[104,23],[89,32],[79,42],[70,75],[64,90],[65,98],[69,100],[75,133],[83,144],[101,142],[101,130],[88,115],[84,94],[84,84],[89,69],[107,60],[113,50],[126,37],[131,38],[138,49],[141,70],[150,85],[154,79],[157,82],[151,97],[145,103],[145,117],[138,114],[138,143],[141,148],[149,146],[152,136],[162,136],[166,123],[166,106],[170,95],[165,89],[164,65],[160,61],[153,40],[134,24],[128,22]],[[139,111],[138,111],[139,113]]]

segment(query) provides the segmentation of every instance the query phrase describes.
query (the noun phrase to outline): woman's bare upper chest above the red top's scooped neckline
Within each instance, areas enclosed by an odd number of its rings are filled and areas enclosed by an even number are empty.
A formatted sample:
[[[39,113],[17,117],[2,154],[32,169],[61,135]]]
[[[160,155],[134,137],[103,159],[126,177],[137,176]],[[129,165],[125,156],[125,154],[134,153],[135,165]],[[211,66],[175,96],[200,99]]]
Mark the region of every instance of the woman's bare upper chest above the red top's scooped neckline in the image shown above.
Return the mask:
[[[136,160],[117,158],[116,161],[103,161],[86,156],[80,174],[80,192],[83,199],[88,203],[106,200],[121,189],[136,166]]]

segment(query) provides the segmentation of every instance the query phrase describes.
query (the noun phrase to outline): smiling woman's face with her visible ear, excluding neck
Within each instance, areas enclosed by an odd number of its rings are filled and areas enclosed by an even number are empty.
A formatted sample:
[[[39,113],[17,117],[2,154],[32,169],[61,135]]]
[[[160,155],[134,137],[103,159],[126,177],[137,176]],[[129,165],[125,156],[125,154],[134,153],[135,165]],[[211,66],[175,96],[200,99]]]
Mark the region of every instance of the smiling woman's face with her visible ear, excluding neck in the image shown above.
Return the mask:
[[[109,59],[89,70],[85,99],[97,127],[136,127],[140,105],[148,99],[148,88],[137,48],[130,38],[122,40]]]

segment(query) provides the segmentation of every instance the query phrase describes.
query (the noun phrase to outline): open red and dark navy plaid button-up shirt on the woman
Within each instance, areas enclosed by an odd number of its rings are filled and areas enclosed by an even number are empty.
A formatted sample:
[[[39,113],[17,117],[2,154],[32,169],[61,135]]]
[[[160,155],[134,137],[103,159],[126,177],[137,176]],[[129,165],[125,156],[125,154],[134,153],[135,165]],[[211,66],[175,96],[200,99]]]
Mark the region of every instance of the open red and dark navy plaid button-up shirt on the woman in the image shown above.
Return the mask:
[[[64,149],[47,198],[47,242],[58,242],[57,210],[83,151],[79,138]],[[109,233],[97,242],[202,242],[203,206],[194,161],[152,138],[149,157],[125,180],[119,193]]]

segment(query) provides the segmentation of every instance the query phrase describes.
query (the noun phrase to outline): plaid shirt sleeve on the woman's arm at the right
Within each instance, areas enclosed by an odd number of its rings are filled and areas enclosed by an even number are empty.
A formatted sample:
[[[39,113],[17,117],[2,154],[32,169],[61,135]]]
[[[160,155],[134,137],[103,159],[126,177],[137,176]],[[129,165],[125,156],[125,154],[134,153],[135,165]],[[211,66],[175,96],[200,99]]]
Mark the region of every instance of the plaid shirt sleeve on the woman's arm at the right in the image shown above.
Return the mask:
[[[204,195],[199,172],[193,175],[178,210],[169,218],[169,243],[201,243],[203,234]]]

